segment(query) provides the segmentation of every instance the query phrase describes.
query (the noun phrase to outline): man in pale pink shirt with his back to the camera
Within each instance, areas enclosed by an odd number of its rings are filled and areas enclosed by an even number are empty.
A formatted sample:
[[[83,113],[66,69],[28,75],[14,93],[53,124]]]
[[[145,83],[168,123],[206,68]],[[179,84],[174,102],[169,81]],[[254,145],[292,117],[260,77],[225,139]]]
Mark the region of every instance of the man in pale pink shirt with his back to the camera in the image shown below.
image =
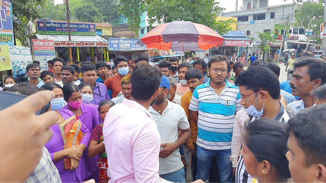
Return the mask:
[[[103,136],[109,182],[169,182],[158,175],[160,134],[148,112],[159,93],[162,72],[142,65],[131,75],[131,97],[110,108]]]

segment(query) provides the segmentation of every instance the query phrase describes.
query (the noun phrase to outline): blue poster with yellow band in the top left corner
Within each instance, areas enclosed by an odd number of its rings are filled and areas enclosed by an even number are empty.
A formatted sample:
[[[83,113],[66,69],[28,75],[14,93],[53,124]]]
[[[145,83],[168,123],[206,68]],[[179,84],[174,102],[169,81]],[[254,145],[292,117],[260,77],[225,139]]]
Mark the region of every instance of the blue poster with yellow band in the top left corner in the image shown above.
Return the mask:
[[[0,6],[0,45],[14,45],[12,7],[10,0],[1,0]]]

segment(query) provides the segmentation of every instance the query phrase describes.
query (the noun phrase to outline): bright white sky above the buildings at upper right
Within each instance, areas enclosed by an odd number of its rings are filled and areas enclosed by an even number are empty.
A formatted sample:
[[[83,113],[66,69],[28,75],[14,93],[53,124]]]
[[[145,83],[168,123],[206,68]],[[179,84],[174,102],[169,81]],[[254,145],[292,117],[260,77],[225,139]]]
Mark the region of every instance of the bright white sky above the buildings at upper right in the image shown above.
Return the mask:
[[[235,11],[235,1],[236,0],[216,0],[219,2],[220,7],[226,8],[223,12],[230,12]],[[240,10],[240,7],[242,7],[243,0],[238,0],[238,11]],[[276,5],[283,5],[283,4],[290,4],[293,3],[293,0],[269,0],[268,6],[276,6]]]

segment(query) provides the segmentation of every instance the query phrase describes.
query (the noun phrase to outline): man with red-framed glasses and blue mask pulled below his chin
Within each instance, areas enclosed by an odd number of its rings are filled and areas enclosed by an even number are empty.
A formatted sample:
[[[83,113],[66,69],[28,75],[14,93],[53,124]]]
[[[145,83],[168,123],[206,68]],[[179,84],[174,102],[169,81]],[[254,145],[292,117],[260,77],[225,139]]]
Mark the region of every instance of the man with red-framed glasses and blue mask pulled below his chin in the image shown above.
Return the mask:
[[[239,87],[244,111],[239,111],[239,114],[235,116],[230,160],[236,178],[235,182],[251,182],[253,178],[245,171],[243,156],[240,155],[244,126],[260,118],[286,123],[292,115],[279,102],[279,81],[269,68],[261,69],[260,66],[250,66],[248,70],[238,75],[235,85]]]

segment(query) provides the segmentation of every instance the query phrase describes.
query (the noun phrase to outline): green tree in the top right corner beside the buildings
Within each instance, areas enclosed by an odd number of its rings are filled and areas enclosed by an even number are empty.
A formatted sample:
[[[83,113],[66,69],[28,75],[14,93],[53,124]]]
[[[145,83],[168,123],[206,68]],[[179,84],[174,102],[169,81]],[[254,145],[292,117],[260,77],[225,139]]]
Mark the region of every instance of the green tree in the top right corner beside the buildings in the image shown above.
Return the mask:
[[[319,25],[324,19],[324,8],[322,2],[310,0],[299,5],[294,13],[296,20],[295,26],[304,29],[313,29],[316,35],[319,35]]]

